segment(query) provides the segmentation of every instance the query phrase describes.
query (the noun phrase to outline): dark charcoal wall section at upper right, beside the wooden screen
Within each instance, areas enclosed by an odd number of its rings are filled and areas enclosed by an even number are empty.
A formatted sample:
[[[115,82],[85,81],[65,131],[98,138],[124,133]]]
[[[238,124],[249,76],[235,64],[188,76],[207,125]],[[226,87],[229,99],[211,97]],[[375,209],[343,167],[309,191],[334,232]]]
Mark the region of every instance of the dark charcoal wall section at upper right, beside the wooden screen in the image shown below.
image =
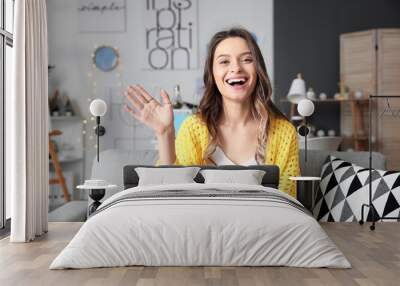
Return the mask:
[[[286,97],[298,72],[317,95],[332,97],[338,91],[339,35],[395,27],[400,27],[398,0],[274,1],[275,101]],[[288,104],[279,105],[288,111]],[[311,122],[339,132],[339,105],[318,104]]]

